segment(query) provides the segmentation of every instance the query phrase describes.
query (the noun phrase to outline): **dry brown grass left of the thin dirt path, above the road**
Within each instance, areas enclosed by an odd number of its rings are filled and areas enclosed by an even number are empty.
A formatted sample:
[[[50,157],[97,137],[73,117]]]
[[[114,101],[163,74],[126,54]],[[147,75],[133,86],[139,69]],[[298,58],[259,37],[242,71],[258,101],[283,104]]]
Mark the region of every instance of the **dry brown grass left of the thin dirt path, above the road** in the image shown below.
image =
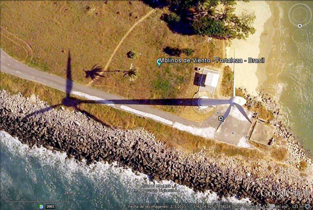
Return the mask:
[[[1,3],[1,33],[18,37],[31,46],[33,58],[28,57],[28,63],[63,77],[70,50],[74,58],[74,80],[87,83],[83,69],[96,63],[103,65],[136,22],[135,16],[141,17],[149,10],[137,1],[131,5],[127,1],[107,4],[102,1],[4,1]],[[133,17],[128,17],[130,12],[134,12]],[[1,44],[8,42],[2,41]],[[10,45],[3,49],[14,52]],[[48,68],[42,69],[42,66]]]

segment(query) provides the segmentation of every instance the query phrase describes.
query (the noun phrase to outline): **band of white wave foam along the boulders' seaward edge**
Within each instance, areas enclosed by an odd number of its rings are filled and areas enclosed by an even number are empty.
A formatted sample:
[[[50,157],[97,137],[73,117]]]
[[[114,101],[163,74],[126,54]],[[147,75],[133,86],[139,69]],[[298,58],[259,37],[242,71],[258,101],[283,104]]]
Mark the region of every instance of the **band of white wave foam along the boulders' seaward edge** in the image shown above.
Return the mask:
[[[119,179],[119,182],[123,185],[123,189],[115,190],[110,192],[111,195],[119,201],[120,193],[131,193],[129,196],[139,197],[143,202],[149,202],[149,196],[151,198],[158,197],[159,199],[170,199],[172,202],[192,202],[192,203],[204,203],[204,202],[237,202],[237,203],[249,203],[249,199],[244,198],[241,200],[235,197],[228,197],[219,199],[217,193],[210,193],[206,191],[204,193],[195,192],[187,186],[176,184],[172,181],[150,181],[148,176],[143,173],[133,173],[130,168],[118,167],[116,163],[108,164],[105,162],[99,162],[98,164],[91,164],[87,166],[85,161],[77,162],[74,159],[66,158],[66,154],[62,152],[53,152],[44,147],[38,148],[34,146],[29,148],[28,145],[22,144],[17,138],[13,138],[11,135],[4,131],[0,131],[1,147],[6,147],[7,150],[23,159],[35,158],[40,162],[40,166],[44,168],[45,166],[50,166],[55,169],[56,173],[60,173],[65,183],[77,183],[77,179],[86,177],[90,180],[93,185],[100,185],[99,188],[104,193],[106,190],[102,189],[102,185],[105,183],[113,182],[115,184]],[[3,173],[3,172],[1,172]],[[3,174],[2,174],[3,175]],[[4,174],[5,175],[5,174]],[[111,179],[114,179],[113,181]],[[142,188],[142,184],[170,184],[172,188],[180,189],[180,193],[132,193],[133,188]],[[116,187],[116,186],[114,186]],[[107,189],[108,190],[108,189]],[[139,202],[139,201],[138,201]]]

